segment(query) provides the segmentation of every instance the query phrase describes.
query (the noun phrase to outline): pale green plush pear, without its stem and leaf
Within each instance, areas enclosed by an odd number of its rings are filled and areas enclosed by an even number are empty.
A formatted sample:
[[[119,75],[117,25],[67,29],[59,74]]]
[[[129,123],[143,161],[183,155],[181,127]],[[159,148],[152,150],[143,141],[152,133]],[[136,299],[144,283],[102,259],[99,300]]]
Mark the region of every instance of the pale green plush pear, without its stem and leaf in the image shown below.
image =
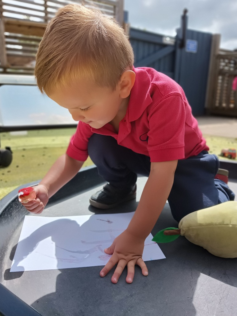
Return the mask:
[[[184,216],[180,235],[215,256],[237,257],[237,202],[228,201]]]

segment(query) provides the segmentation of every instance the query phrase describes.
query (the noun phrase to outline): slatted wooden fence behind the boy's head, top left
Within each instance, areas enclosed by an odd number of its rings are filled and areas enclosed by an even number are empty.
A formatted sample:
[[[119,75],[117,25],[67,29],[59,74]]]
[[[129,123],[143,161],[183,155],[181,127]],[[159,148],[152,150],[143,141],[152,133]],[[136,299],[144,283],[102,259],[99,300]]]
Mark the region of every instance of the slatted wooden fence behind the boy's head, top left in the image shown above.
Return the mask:
[[[70,3],[97,8],[123,25],[123,0],[0,0],[0,72],[32,74],[46,25]]]

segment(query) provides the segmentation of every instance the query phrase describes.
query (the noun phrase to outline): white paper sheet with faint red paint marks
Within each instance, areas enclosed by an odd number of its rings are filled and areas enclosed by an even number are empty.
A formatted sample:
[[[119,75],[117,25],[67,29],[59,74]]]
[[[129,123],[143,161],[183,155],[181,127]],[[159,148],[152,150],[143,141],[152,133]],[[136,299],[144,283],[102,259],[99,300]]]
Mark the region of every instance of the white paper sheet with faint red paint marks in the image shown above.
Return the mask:
[[[105,265],[104,253],[134,212],[63,217],[25,216],[10,272]],[[164,259],[150,234],[143,260]]]

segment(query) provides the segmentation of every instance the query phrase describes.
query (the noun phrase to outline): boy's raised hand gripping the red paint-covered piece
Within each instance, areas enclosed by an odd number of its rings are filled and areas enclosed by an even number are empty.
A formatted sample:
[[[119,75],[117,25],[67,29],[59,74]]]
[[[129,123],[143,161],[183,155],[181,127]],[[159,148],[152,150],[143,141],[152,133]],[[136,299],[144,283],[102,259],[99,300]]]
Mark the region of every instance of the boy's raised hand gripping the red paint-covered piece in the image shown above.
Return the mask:
[[[36,198],[30,202],[21,204],[26,208],[27,211],[34,214],[40,214],[42,213],[45,205],[48,203],[48,190],[42,184],[34,186],[34,190],[36,193]]]

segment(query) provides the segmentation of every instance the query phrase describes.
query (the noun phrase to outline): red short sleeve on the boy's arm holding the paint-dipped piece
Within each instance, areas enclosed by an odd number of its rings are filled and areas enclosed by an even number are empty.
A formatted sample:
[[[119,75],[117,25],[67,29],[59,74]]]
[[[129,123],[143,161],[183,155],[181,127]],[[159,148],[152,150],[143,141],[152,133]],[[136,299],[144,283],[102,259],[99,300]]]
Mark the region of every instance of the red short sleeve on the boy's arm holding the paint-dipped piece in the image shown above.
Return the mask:
[[[68,145],[67,155],[78,161],[86,161],[88,157],[88,141],[92,134],[91,127],[79,121],[76,133],[71,137]]]

